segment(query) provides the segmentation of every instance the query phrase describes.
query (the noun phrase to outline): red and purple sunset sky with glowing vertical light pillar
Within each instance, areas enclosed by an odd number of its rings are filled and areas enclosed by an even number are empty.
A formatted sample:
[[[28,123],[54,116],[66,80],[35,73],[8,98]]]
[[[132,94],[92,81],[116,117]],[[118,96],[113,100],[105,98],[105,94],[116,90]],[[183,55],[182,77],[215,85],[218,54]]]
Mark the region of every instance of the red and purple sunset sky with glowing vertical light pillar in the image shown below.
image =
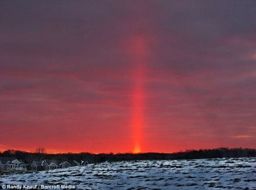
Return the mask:
[[[255,1],[1,1],[0,151],[256,148]]]

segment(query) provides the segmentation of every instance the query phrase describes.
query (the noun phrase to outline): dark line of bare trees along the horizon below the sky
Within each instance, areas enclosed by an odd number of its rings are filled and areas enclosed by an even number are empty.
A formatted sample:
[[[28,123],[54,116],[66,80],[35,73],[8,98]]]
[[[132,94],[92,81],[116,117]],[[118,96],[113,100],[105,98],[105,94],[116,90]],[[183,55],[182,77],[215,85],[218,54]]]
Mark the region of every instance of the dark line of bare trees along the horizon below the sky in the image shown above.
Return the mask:
[[[125,160],[172,160],[172,159],[202,159],[202,158],[223,158],[223,157],[256,157],[255,149],[242,148],[218,148],[204,150],[187,150],[176,153],[125,153],[125,154],[92,154],[92,153],[62,153],[47,154],[45,149],[40,148],[35,152],[24,152],[19,150],[7,150],[0,153],[0,157],[15,157],[27,163],[33,160],[84,160],[89,163],[99,163],[104,161],[125,161]]]

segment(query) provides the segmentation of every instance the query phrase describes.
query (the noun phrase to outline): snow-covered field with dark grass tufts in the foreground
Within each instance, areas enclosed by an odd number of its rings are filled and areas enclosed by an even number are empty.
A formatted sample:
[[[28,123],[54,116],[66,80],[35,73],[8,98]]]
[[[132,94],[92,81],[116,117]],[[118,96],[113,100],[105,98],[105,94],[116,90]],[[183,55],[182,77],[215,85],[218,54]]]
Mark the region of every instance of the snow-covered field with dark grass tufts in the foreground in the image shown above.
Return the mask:
[[[67,184],[76,189],[256,189],[256,158],[105,162],[0,176],[0,188],[7,184]]]

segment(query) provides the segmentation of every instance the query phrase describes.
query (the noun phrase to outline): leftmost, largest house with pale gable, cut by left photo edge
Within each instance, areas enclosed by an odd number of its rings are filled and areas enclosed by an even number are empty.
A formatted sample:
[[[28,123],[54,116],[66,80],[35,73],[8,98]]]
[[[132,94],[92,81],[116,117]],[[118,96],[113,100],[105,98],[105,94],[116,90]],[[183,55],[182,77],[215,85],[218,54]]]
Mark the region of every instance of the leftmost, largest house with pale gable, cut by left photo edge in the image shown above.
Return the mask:
[[[0,158],[0,170],[6,171],[27,171],[28,164],[13,157]]]

